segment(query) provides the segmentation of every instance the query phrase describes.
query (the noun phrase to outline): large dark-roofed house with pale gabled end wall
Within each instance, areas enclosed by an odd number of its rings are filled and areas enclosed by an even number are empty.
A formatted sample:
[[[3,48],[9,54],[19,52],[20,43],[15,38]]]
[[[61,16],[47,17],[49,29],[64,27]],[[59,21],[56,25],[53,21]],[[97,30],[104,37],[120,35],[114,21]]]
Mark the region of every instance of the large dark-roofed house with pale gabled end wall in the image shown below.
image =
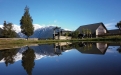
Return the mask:
[[[102,34],[105,34],[108,32],[107,28],[104,26],[103,23],[95,23],[95,24],[88,24],[88,25],[82,25],[80,26],[76,31],[79,31],[81,34],[83,29],[89,29],[91,30],[92,37],[96,37]],[[86,31],[85,31],[86,33]]]

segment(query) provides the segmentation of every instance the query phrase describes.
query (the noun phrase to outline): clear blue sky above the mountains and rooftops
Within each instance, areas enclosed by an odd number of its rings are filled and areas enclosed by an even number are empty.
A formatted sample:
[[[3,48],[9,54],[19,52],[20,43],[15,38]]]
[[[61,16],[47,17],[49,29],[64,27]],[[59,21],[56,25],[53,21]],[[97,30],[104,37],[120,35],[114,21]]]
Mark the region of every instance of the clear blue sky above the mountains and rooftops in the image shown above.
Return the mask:
[[[0,0],[0,25],[4,21],[20,25],[26,5],[33,24],[42,26],[76,30],[103,22],[110,30],[121,21],[121,0]]]

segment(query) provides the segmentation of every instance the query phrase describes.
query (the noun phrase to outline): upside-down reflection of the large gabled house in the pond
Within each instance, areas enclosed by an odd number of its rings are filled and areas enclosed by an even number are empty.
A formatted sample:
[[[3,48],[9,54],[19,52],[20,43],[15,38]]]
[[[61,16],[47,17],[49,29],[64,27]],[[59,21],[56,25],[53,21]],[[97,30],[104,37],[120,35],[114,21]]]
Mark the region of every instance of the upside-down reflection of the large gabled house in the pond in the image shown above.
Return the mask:
[[[87,43],[83,47],[81,45],[81,47],[78,48],[78,50],[81,53],[86,53],[86,54],[105,54],[107,48],[108,45],[106,43],[96,43],[96,44]]]

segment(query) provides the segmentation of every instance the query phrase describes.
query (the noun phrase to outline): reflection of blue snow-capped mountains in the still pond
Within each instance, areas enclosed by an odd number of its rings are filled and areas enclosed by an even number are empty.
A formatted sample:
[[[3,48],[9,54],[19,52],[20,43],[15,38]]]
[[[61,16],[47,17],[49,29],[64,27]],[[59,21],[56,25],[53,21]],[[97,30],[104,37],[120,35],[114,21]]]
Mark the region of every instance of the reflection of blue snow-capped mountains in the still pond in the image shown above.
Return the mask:
[[[65,46],[65,45],[64,45]],[[63,46],[62,46],[63,47]],[[54,44],[48,45],[38,45],[38,46],[30,46],[31,49],[34,50],[35,53],[35,60],[41,59],[45,56],[55,56],[58,55],[55,52],[55,49],[59,52],[64,52],[66,50],[59,49],[58,47],[55,48]],[[14,55],[13,59],[14,61],[19,61],[22,59],[22,53],[25,52],[28,49],[28,47],[22,47],[20,49],[17,49],[16,54]],[[9,49],[11,50],[11,49]],[[2,52],[6,52],[7,50],[1,50],[0,51],[0,63],[5,62],[4,56],[1,54]],[[62,53],[61,53],[62,54]]]

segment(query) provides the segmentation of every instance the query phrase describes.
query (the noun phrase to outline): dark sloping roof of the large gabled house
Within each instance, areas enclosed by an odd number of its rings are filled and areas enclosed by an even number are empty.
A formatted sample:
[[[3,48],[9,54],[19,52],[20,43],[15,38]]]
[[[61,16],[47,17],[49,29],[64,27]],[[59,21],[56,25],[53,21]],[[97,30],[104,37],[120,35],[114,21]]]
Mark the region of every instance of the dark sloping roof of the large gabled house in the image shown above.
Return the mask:
[[[80,33],[82,33],[82,29],[90,29],[92,33],[94,33],[96,31],[96,29],[102,25],[106,31],[108,32],[107,28],[105,27],[105,25],[100,22],[100,23],[94,23],[94,24],[88,24],[88,25],[81,25],[76,31],[79,31]]]

